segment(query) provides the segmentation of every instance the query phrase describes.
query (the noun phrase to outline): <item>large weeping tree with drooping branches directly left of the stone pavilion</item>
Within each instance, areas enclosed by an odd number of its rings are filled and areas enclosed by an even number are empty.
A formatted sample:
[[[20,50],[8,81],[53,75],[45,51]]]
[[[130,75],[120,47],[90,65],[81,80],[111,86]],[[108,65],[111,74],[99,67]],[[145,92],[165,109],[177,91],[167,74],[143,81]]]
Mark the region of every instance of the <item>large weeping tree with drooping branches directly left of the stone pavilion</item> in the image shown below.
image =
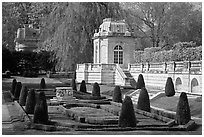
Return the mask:
[[[42,48],[54,51],[56,70],[91,62],[92,36],[104,18],[121,18],[119,3],[58,3],[42,25]]]

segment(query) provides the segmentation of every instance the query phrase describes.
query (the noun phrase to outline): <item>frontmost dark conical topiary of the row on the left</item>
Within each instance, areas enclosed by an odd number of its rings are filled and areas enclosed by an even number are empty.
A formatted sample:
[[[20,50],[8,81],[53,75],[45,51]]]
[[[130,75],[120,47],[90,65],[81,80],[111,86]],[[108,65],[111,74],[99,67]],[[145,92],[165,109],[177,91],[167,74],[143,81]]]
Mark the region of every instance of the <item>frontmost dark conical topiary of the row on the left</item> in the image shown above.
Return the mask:
[[[41,124],[48,123],[48,108],[45,93],[43,91],[41,91],[37,96],[33,122]]]

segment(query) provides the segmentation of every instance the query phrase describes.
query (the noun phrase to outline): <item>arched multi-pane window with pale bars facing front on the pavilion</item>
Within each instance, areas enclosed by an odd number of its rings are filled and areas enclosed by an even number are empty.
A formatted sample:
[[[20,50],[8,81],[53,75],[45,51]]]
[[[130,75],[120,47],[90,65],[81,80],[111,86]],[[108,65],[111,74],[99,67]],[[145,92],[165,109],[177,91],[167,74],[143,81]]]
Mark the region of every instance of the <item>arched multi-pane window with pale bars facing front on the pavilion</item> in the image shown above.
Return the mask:
[[[114,48],[114,63],[123,64],[123,48],[119,45]]]

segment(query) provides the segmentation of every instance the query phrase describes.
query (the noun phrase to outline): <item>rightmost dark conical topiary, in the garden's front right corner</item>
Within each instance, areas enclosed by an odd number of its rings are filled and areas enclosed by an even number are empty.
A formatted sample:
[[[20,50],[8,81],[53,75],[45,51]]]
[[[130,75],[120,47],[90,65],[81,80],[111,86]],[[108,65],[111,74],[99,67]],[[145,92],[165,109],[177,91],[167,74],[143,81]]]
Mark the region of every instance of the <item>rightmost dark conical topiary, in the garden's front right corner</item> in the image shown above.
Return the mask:
[[[185,92],[182,92],[179,97],[179,102],[176,110],[176,122],[179,125],[185,125],[191,120],[191,112],[188,104],[188,98]]]

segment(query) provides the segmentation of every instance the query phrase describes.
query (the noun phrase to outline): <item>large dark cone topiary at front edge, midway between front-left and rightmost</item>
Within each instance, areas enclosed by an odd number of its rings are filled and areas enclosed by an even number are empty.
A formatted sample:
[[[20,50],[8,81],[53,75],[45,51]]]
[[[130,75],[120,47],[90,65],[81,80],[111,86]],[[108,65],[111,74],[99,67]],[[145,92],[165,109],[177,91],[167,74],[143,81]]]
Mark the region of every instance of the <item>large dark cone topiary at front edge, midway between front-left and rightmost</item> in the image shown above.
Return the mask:
[[[126,96],[119,116],[119,127],[136,127],[136,117],[132,104],[132,100],[129,96]]]

